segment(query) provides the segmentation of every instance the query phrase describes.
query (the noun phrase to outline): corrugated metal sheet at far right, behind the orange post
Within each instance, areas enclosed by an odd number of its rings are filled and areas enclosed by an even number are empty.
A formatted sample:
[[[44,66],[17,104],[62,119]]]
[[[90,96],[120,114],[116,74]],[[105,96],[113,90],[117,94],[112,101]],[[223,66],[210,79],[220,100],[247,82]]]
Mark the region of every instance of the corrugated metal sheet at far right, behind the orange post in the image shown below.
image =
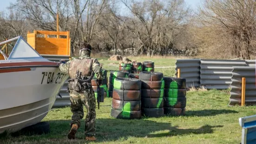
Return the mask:
[[[242,78],[245,78],[245,104],[256,105],[255,67],[234,66],[230,90],[230,105],[241,104]]]

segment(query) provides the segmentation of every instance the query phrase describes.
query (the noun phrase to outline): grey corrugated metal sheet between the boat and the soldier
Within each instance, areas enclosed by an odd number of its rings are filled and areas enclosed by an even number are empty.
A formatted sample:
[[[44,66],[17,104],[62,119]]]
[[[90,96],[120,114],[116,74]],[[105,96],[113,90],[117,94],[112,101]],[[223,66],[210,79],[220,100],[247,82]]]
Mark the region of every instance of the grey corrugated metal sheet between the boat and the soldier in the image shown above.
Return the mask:
[[[69,60],[69,56],[67,55],[48,55],[48,54],[41,54],[41,56],[45,59],[51,60],[51,61],[55,61],[55,62],[59,62],[60,59],[63,59],[65,61]],[[70,78],[68,78],[70,79]],[[69,99],[69,93],[66,92],[67,91],[67,84],[68,82],[66,81],[65,84],[62,86],[59,94],[62,96],[62,98],[60,98],[59,96],[57,96],[56,101],[53,105],[53,108],[56,107],[64,107],[64,106],[69,106],[71,105],[70,103],[70,99]]]

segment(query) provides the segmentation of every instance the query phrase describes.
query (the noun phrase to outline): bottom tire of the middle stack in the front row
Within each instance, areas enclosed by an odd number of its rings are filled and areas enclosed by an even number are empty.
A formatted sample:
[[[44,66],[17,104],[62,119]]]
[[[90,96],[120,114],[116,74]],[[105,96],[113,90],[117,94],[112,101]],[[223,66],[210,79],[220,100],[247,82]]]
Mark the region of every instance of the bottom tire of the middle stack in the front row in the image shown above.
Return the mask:
[[[149,109],[149,108],[141,108],[141,113],[145,117],[163,117],[164,116],[164,108],[155,108],[155,109]]]

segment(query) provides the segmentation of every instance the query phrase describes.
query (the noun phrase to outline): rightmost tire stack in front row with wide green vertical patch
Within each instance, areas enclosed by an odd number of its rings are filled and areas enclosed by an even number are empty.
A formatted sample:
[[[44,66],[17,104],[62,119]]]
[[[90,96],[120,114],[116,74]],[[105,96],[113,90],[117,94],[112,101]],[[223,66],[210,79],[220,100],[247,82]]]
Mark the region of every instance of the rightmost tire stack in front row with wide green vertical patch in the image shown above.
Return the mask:
[[[164,114],[171,116],[185,115],[186,79],[164,77]]]

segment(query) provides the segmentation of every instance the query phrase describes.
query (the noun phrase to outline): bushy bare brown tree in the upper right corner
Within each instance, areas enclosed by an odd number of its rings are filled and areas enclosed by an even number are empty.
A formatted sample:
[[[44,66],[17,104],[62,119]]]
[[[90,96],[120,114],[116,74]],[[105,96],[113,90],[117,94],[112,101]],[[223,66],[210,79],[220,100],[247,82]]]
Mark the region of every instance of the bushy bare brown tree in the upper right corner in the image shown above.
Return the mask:
[[[256,3],[255,0],[204,0],[199,7],[197,22],[202,37],[212,44],[216,54],[226,51],[224,57],[234,55],[250,59],[250,52],[255,51],[256,40]],[[206,33],[210,34],[206,34]],[[220,41],[218,41],[220,39]],[[207,51],[206,47],[203,47]],[[225,49],[225,50],[223,50]],[[208,49],[211,51],[211,49]]]

